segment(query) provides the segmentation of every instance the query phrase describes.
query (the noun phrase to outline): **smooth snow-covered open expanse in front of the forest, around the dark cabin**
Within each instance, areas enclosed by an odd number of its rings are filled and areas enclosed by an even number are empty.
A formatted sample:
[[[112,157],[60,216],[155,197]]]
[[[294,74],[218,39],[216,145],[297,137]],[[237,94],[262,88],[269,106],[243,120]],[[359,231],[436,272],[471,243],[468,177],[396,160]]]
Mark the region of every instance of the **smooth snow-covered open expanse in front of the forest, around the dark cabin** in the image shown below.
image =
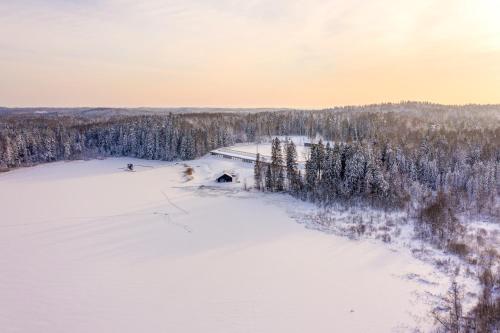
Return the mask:
[[[432,265],[296,223],[312,206],[244,191],[251,164],[188,165],[190,180],[184,163],[128,158],[1,174],[0,331],[430,328],[427,296],[449,282]],[[229,169],[239,183],[213,181]]]

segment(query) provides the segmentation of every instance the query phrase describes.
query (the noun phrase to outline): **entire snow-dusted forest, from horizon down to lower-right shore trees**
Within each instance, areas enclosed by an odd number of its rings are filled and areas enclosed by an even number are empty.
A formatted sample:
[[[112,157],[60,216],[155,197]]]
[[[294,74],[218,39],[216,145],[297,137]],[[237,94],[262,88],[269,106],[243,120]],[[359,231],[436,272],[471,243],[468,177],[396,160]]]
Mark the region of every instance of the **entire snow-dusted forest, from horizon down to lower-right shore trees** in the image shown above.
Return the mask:
[[[480,266],[483,291],[473,311],[465,316],[451,309],[436,318],[457,332],[472,320],[478,331],[499,324],[498,251],[480,238],[467,242],[464,230],[468,221],[500,220],[500,106],[101,111],[3,110],[0,170],[99,157],[192,160],[216,148],[272,139],[271,163],[255,163],[257,190],[321,207],[404,212],[415,237]],[[314,143],[303,168],[289,136]]]

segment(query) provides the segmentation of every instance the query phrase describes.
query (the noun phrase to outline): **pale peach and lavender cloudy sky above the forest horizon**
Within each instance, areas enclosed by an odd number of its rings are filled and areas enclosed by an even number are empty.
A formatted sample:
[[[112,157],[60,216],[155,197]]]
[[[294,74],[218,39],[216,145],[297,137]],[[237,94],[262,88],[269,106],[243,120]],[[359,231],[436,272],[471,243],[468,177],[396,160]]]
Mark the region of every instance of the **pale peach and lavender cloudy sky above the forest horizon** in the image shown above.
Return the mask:
[[[498,0],[0,0],[0,105],[500,103]]]

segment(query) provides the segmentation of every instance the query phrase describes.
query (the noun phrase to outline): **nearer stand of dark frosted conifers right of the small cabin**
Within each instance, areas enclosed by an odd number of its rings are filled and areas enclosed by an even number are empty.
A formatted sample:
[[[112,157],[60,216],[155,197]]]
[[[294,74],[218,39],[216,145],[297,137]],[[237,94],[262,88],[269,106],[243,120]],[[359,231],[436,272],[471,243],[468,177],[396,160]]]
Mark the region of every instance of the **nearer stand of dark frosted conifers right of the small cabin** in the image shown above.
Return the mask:
[[[302,170],[295,144],[272,141],[271,163],[258,156],[255,164],[257,189],[286,191],[320,204],[365,203],[383,208],[407,208],[421,220],[436,220],[437,211],[496,216],[500,160],[495,155],[481,160],[477,150],[445,158],[439,146],[423,140],[418,149],[405,152],[380,142],[327,142],[312,145]],[[440,213],[439,213],[440,214]],[[452,220],[451,217],[444,220]],[[433,221],[434,223],[435,221]],[[444,239],[452,227],[446,223],[422,230]]]

